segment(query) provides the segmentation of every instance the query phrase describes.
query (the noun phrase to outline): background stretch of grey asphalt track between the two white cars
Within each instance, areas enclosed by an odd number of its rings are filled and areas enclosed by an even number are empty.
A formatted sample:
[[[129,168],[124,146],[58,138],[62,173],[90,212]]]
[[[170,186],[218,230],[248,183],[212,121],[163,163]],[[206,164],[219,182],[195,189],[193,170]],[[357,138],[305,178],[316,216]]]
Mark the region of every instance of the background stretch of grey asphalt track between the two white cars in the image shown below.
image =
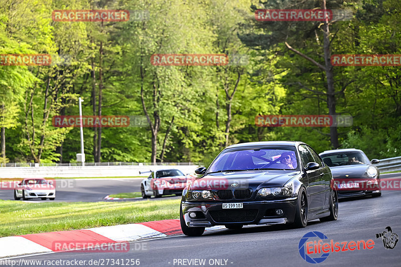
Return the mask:
[[[96,202],[96,201],[126,201],[104,200],[109,194],[139,192],[143,178],[87,178],[87,179],[56,179],[56,199],[63,202]],[[166,196],[164,196],[166,197]],[[167,196],[168,197],[168,196]],[[13,190],[0,190],[0,199],[14,200]],[[151,198],[153,199],[153,198]],[[133,201],[133,199],[129,199]],[[135,199],[135,201],[141,199]],[[43,202],[53,200],[32,199],[29,201]]]

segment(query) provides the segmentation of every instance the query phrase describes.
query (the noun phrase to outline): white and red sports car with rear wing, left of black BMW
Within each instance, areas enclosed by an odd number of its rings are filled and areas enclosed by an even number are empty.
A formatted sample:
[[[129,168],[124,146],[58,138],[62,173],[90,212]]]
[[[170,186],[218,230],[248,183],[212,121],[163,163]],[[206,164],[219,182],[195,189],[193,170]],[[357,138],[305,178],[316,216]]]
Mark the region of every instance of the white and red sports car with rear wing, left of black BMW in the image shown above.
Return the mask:
[[[186,186],[187,176],[180,170],[166,169],[148,172],[150,175],[141,181],[142,198],[182,194],[182,190]]]

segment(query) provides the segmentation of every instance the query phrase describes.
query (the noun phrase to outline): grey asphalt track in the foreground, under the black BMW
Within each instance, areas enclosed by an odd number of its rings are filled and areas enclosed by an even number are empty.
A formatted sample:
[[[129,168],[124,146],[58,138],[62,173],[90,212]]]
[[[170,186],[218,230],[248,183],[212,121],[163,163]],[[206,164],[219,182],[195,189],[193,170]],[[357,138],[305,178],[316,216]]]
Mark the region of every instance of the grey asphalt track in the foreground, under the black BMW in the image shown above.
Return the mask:
[[[399,175],[399,174],[397,174]],[[386,175],[386,178],[395,175]],[[384,175],[383,175],[384,177]],[[84,266],[127,266],[124,263],[139,259],[139,266],[311,266],[298,251],[301,237],[310,231],[324,233],[334,242],[372,239],[372,249],[330,252],[315,266],[400,266],[401,241],[393,249],[385,249],[376,233],[391,226],[401,237],[401,191],[383,191],[381,197],[346,200],[339,203],[337,221],[308,222],[306,228],[289,229],[282,226],[247,226],[240,230],[218,230],[200,237],[183,235],[130,243],[129,252],[58,252],[36,256],[16,257],[24,260],[86,260]],[[324,242],[330,242],[330,241]],[[316,256],[313,256],[316,257]],[[117,264],[117,259],[119,263]],[[133,261],[130,261],[133,259]],[[193,264],[205,259],[205,264]],[[220,259],[216,261],[215,259]],[[227,260],[227,261],[226,261]],[[106,264],[108,261],[108,264]],[[112,264],[114,262],[114,264]],[[30,264],[24,266],[56,266]],[[210,264],[211,263],[211,264]],[[132,266],[132,264],[130,264]],[[63,266],[63,265],[60,265]]]

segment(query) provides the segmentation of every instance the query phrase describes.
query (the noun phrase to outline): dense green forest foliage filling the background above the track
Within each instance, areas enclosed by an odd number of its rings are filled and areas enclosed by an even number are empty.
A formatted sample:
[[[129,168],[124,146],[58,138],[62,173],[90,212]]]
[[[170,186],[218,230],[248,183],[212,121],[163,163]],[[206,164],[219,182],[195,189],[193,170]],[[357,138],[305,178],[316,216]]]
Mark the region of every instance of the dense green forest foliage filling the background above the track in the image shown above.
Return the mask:
[[[262,140],[300,140],[318,152],[355,147],[369,158],[399,156],[400,68],[323,70],[300,54],[322,65],[330,55],[325,44],[331,54],[401,54],[401,2],[329,1],[328,9],[353,13],[352,20],[329,27],[254,17],[256,9],[322,8],[323,0],[269,3],[0,0],[0,54],[53,58],[51,66],[0,66],[2,162],[75,161],[79,128],[53,127],[52,117],[78,115],[78,97],[84,99],[84,115],[148,116],[146,127],[84,128],[92,162],[208,164],[227,145]],[[91,9],[139,16],[127,22],[52,19],[53,10]],[[224,53],[247,60],[228,66],[151,65],[152,54],[166,53]],[[334,111],[328,108],[333,101]],[[257,127],[258,114],[351,115],[353,125],[335,133],[323,127]]]

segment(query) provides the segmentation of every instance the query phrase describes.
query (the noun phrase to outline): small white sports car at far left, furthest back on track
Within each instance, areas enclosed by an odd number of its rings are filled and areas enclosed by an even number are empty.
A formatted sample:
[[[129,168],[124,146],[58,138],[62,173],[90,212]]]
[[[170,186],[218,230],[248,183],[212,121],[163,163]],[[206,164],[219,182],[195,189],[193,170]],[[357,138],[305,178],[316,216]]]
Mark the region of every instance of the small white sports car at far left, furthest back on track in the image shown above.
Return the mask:
[[[25,178],[14,188],[14,199],[41,198],[54,200],[56,188],[44,178]]]

